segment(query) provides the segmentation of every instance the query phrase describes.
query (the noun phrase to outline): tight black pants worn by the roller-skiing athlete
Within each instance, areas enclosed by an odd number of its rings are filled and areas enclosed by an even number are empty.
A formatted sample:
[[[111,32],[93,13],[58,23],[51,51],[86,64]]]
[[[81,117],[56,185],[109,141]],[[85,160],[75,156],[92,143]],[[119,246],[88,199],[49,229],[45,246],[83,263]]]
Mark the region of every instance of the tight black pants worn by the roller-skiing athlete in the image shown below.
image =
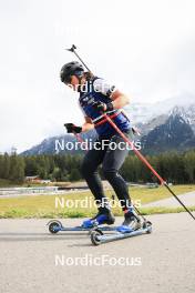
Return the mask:
[[[133,138],[133,133],[131,130],[124,134],[131,139]],[[84,156],[81,172],[96,202],[101,204],[102,202],[106,201],[102,181],[100,175],[98,174],[98,166],[102,164],[104,178],[114,189],[122,209],[126,210],[126,208],[131,205],[131,199],[127,185],[124,179],[119,174],[119,170],[122,166],[129,151],[126,148],[125,150],[121,150],[120,145],[122,144],[120,143],[122,142],[124,148],[124,140],[117,133],[111,135],[110,138],[99,138],[96,142],[102,142],[103,140],[107,140],[109,145],[104,149],[101,148],[101,150],[90,150]],[[113,148],[113,142],[117,148]]]

